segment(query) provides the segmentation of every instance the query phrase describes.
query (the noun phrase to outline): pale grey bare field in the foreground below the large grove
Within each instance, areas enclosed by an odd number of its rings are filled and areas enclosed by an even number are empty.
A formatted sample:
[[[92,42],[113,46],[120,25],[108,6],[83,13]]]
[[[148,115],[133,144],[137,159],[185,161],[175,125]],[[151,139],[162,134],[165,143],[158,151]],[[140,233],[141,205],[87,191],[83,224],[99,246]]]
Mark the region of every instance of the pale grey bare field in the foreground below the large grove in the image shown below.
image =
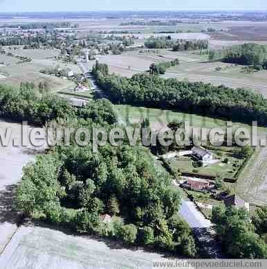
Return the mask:
[[[2,268],[12,269],[152,269],[152,261],[159,259],[168,261],[165,254],[127,248],[114,241],[75,236],[41,225],[20,227],[1,255],[0,264]]]

